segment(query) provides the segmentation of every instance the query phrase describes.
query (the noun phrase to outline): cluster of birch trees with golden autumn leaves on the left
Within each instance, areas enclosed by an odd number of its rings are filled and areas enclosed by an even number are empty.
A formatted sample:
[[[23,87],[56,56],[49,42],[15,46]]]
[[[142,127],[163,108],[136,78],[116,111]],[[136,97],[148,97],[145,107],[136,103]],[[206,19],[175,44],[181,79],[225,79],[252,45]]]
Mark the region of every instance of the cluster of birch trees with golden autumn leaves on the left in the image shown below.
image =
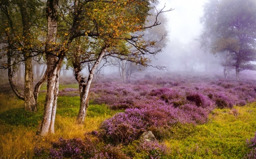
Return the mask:
[[[44,115],[38,135],[54,133],[60,70],[68,52],[77,47],[74,51],[76,53],[74,55],[80,57],[79,65],[74,67],[74,70],[78,69],[77,75],[80,74],[82,63],[91,62],[88,65],[90,66],[88,80],[85,82],[82,76],[81,78],[77,76],[81,87],[81,99],[85,103],[88,100],[94,72],[102,58],[120,58],[119,55],[124,55],[123,59],[126,61],[144,65],[147,61],[144,55],[156,54],[160,51],[152,49],[151,46],[155,41],[145,41],[143,35],[138,33],[153,26],[144,25],[151,2],[155,1],[1,1],[1,20],[2,24],[5,24],[1,26],[1,55],[3,58],[7,57],[3,67],[9,70],[10,83],[14,75],[13,68],[18,67],[20,62],[25,63],[25,72],[27,71],[25,85],[29,85],[29,87],[25,86],[24,98],[30,97],[27,99],[36,101],[40,85],[47,80]],[[45,14],[40,12],[42,8],[45,8]],[[38,10],[39,14],[35,13]],[[38,18],[39,16],[45,16],[46,19],[40,21],[42,18]],[[159,24],[157,21],[154,23],[154,25]],[[22,29],[19,29],[20,25]],[[33,97],[31,96],[33,80],[31,61],[32,57],[40,53],[46,58],[47,68],[42,79],[35,85]],[[12,83],[11,85],[15,86]],[[16,91],[16,88],[13,90]],[[26,95],[26,92],[30,94]],[[18,92],[16,93],[19,96]],[[80,108],[81,117],[78,116],[77,121],[84,118],[82,117],[84,115],[82,113],[85,113],[84,109],[84,107]]]

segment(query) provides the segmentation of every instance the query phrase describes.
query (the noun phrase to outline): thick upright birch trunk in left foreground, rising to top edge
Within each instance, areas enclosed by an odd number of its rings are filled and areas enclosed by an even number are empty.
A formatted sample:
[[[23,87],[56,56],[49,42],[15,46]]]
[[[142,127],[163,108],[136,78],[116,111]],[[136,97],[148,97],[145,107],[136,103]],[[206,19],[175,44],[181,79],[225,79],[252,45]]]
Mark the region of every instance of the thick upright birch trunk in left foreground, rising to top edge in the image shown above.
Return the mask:
[[[47,39],[46,39],[46,61],[47,69],[47,94],[44,104],[44,115],[42,123],[38,129],[37,135],[46,136],[54,133],[55,114],[57,108],[57,96],[59,92],[59,75],[63,55],[56,53],[54,50],[57,35],[57,5],[58,0],[48,0],[46,7],[47,15]],[[59,55],[59,57],[57,56]]]

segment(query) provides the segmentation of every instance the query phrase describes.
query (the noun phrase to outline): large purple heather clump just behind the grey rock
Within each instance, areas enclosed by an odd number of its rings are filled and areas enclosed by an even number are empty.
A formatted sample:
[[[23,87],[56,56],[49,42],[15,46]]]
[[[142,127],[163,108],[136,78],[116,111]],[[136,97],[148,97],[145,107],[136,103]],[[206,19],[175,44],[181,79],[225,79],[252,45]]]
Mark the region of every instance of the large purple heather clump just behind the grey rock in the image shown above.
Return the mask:
[[[152,130],[153,134],[161,128],[171,128],[175,123],[205,123],[209,110],[193,105],[175,108],[172,105],[151,106],[142,109],[130,108],[124,113],[102,123],[104,139],[113,144],[129,144],[137,140],[143,131]],[[158,132],[156,132],[158,133]],[[163,134],[156,135],[163,136]]]

